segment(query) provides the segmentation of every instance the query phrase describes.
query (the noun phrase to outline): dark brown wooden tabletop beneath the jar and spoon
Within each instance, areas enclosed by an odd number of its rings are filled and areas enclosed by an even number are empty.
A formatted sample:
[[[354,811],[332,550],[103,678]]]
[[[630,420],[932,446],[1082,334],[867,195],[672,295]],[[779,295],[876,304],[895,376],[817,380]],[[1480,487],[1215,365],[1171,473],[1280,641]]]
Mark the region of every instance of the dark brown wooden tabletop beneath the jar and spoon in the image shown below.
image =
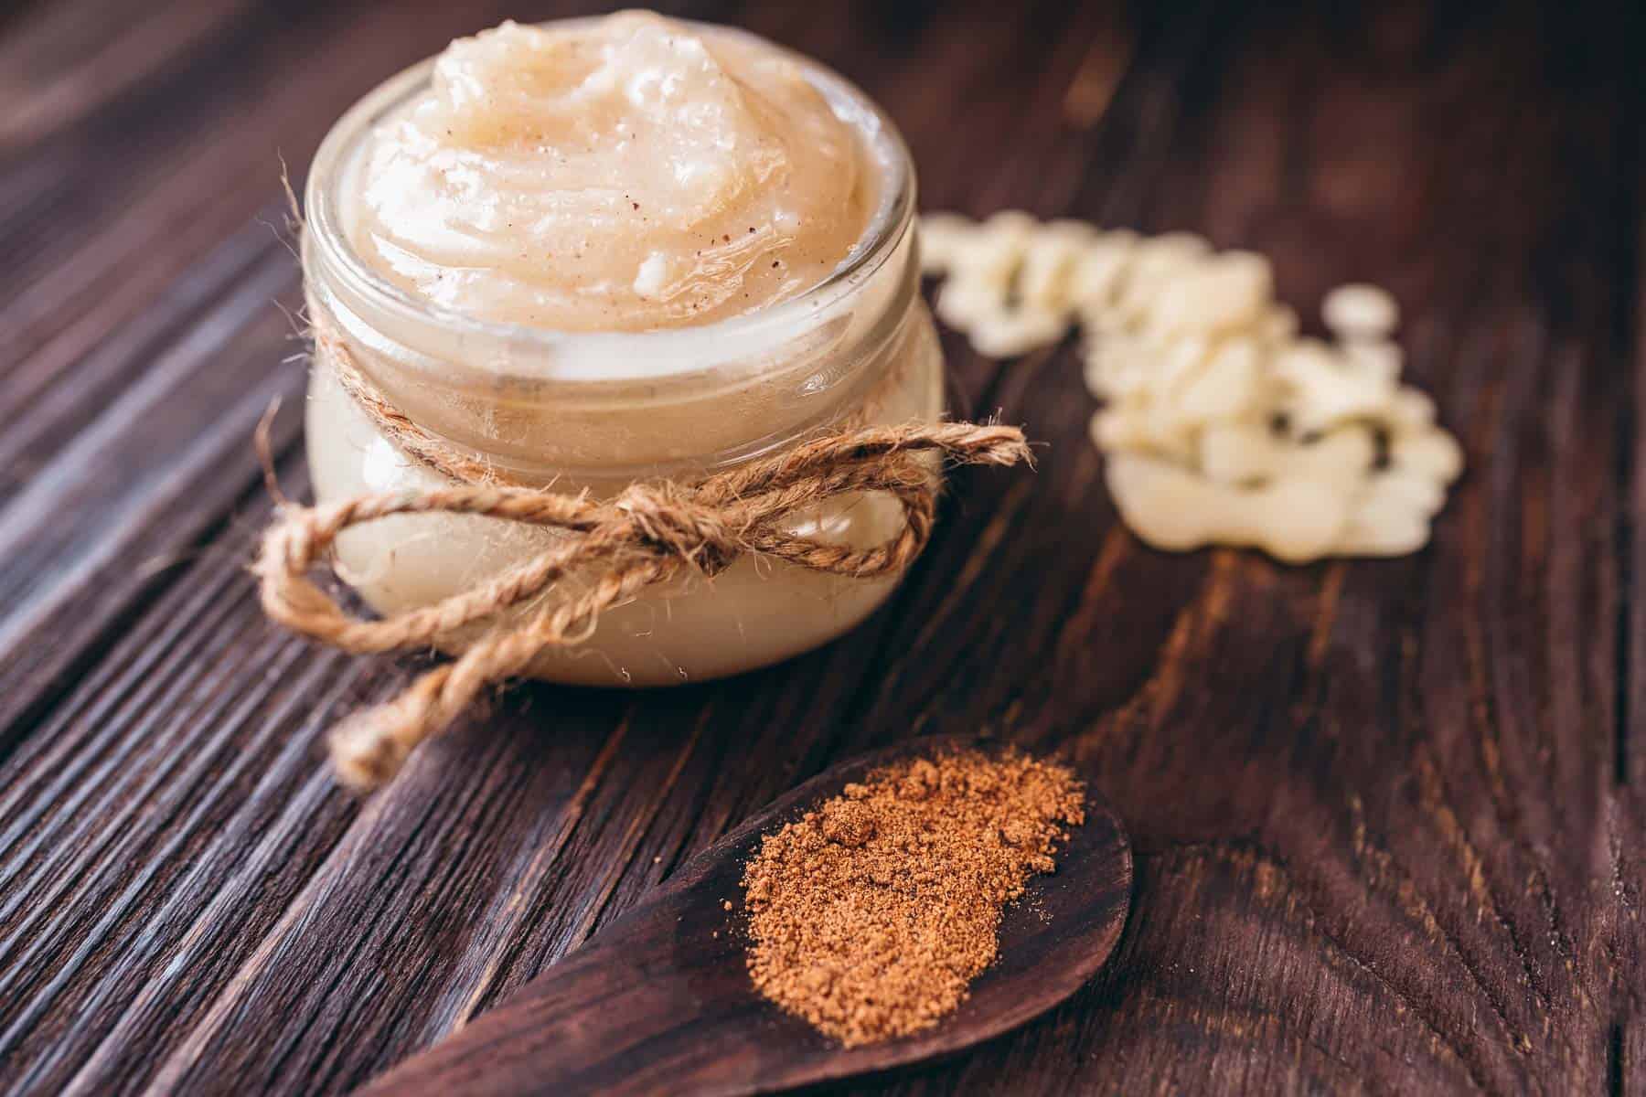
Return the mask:
[[[897,1092],[1646,1092],[1641,18],[1424,3],[693,3],[859,81],[927,209],[1192,229],[1305,314],[1388,285],[1470,470],[1419,556],[1134,541],[1070,345],[946,337],[1050,442],[892,605],[672,692],[528,686],[382,794],[413,668],[267,625],[250,436],[306,490],[281,232],[329,122],[487,0],[0,8],[0,1087],[336,1092],[487,1010],[828,761],[1070,748],[1137,845],[1114,960]]]

